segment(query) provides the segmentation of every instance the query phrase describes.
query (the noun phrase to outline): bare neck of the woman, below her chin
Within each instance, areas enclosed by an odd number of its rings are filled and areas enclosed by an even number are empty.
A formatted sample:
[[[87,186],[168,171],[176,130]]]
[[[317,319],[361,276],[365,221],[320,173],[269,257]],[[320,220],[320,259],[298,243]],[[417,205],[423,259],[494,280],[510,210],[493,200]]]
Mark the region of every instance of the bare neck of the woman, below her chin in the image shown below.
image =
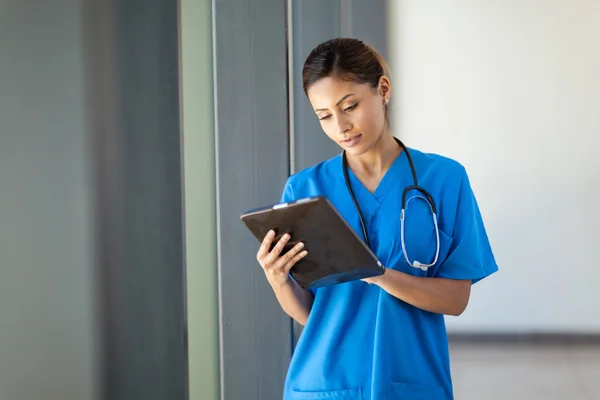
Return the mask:
[[[391,132],[384,132],[366,153],[359,156],[346,154],[348,167],[355,173],[382,176],[402,152]]]

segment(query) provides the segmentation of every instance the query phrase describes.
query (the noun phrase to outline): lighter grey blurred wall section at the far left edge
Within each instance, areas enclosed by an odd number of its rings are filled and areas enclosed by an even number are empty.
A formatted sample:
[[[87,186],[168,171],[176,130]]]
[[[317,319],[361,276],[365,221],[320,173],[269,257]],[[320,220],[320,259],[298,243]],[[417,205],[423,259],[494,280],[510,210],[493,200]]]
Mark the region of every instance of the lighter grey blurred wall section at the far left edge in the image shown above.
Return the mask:
[[[82,9],[0,6],[0,399],[94,398]]]

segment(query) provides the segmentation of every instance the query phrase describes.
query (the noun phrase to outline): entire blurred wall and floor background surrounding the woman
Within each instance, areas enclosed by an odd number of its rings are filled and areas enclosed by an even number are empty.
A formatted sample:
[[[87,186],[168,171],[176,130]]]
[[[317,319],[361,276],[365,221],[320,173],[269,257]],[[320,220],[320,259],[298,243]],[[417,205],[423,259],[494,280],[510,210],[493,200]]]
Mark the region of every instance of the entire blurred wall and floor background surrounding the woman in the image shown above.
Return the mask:
[[[300,81],[338,36],[479,200],[456,398],[600,398],[597,1],[2,0],[0,400],[281,398],[301,330],[239,215],[339,151]]]

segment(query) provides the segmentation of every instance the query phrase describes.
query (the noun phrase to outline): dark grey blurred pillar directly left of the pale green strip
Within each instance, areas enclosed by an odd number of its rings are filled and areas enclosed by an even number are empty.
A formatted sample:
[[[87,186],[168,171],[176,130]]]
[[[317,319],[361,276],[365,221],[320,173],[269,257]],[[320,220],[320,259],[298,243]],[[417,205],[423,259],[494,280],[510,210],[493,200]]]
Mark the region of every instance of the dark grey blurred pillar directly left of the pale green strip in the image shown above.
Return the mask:
[[[102,397],[183,400],[178,2],[88,6]]]

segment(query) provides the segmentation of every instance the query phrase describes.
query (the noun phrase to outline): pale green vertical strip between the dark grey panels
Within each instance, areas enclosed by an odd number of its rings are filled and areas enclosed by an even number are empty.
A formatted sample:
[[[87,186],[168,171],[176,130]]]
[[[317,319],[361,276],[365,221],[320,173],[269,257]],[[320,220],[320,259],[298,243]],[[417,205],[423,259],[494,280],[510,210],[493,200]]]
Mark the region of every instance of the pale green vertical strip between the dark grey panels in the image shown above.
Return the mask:
[[[215,131],[210,0],[181,1],[190,400],[219,398]]]

